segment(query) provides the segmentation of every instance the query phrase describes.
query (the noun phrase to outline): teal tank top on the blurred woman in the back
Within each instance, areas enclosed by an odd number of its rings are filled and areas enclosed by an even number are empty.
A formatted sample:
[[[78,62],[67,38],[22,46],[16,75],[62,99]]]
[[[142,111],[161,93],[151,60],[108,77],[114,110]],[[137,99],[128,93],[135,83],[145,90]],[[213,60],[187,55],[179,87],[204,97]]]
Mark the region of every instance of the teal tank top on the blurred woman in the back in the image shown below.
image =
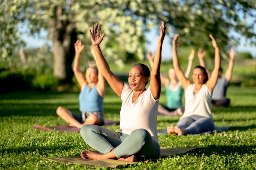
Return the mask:
[[[170,90],[170,82],[169,82],[166,89],[167,108],[170,108],[170,109],[180,108],[182,106],[182,101],[181,101],[182,94],[183,94],[183,89],[181,87],[180,82],[178,83],[177,91]]]

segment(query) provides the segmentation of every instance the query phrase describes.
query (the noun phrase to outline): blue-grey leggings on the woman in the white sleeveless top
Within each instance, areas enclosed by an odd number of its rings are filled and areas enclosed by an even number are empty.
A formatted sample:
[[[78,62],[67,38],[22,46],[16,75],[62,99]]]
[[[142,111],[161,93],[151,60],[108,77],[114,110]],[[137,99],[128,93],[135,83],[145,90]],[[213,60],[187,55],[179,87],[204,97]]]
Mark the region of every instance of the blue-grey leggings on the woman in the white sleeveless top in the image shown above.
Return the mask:
[[[186,129],[187,134],[198,134],[203,132],[213,131],[215,126],[212,119],[193,115],[180,119],[177,127],[180,129]]]

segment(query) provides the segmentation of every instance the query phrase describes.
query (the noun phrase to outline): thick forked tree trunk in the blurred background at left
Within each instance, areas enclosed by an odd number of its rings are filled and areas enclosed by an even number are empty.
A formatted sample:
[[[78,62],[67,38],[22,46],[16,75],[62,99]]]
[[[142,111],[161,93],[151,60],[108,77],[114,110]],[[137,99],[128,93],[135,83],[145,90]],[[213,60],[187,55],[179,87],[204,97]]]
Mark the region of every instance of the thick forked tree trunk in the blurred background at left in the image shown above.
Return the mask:
[[[53,43],[54,68],[53,74],[64,83],[72,81],[73,69],[71,67],[76,42],[76,31],[73,24],[67,20],[60,20],[65,7],[55,9],[55,18],[49,20],[49,33]]]

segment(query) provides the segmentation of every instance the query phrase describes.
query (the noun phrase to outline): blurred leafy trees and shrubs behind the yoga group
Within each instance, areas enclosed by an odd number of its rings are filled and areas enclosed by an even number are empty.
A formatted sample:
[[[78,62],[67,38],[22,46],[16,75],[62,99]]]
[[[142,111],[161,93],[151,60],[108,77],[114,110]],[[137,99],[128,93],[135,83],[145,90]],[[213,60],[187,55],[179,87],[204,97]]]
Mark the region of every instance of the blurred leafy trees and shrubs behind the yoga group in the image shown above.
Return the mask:
[[[224,69],[228,49],[239,43],[239,36],[230,31],[256,45],[255,0],[0,0],[0,9],[1,92],[77,91],[73,44],[80,39],[85,45],[81,57],[84,72],[87,61],[93,59],[88,29],[96,22],[106,33],[101,44],[103,54],[119,75],[126,74],[136,62],[148,65],[145,32],[158,28],[160,20],[166,22],[169,36],[180,34],[179,56],[184,69],[191,49],[199,47],[207,51],[207,67],[212,69],[214,50],[209,34],[218,42]],[[25,26],[28,30],[20,32],[18,27]],[[20,35],[36,35],[43,30],[48,31],[52,47],[26,49]],[[237,54],[234,84],[256,85],[255,60],[250,58],[250,54]],[[167,73],[170,63],[163,62],[161,71]],[[194,63],[198,63],[196,57]]]

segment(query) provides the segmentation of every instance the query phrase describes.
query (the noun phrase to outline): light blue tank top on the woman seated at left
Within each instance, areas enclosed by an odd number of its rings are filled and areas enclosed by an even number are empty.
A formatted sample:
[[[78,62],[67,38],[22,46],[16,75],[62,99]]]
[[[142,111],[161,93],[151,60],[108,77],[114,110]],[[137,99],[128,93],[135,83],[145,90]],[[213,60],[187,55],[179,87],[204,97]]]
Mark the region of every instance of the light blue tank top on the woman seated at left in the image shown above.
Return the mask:
[[[96,85],[89,88],[86,85],[79,94],[79,109],[80,111],[103,111],[103,99],[99,96]]]

